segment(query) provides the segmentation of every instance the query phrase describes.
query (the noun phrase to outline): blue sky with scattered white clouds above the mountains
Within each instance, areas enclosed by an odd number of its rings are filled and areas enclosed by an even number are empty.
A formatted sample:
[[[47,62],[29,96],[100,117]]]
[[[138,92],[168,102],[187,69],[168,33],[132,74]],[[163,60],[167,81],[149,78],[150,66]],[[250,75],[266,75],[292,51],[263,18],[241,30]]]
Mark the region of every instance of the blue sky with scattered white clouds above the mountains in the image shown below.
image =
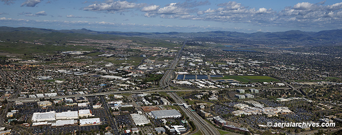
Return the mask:
[[[341,0],[0,0],[0,26],[123,32],[342,29]]]

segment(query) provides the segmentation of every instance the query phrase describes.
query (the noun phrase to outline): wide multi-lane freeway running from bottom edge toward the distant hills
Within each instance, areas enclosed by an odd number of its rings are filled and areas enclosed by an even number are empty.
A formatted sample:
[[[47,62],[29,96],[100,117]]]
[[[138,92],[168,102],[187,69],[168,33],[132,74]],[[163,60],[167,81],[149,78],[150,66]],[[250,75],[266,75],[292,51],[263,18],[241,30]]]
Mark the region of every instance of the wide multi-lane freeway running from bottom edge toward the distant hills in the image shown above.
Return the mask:
[[[178,60],[180,58],[180,54],[184,49],[184,46],[187,42],[184,42],[183,46],[178,51],[176,57],[171,62],[171,65],[168,70],[165,71],[162,79],[159,81],[159,85],[164,88],[164,90],[171,90],[169,87],[171,79],[174,77],[173,69],[176,67]],[[176,93],[169,92],[171,97],[176,101],[176,103],[185,103],[183,99],[181,99]],[[185,112],[185,114],[190,118],[190,120],[193,121],[193,123],[196,125],[196,127],[202,131],[204,135],[220,135],[218,131],[209,123],[207,123],[205,120],[203,120],[196,112],[192,112],[189,109],[185,109],[183,106],[180,106],[180,108]]]

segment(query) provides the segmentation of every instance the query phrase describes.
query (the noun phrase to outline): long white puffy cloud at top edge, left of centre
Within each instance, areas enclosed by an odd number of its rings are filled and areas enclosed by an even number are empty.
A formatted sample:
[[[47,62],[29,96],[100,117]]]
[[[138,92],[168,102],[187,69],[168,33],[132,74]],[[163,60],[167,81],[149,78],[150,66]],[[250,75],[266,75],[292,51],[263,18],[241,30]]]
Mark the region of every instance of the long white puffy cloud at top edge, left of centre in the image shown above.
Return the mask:
[[[123,12],[126,9],[142,7],[143,3],[132,3],[128,1],[107,1],[106,3],[95,3],[83,8],[85,11],[108,11],[108,12]]]

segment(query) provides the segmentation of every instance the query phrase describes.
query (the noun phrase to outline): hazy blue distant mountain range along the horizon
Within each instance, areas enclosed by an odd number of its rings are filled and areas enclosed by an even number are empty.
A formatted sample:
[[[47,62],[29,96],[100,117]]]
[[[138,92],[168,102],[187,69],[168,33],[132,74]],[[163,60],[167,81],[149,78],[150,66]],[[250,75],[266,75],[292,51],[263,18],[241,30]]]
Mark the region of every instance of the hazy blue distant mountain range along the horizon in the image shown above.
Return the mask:
[[[256,32],[241,33],[230,31],[210,31],[210,32],[167,32],[167,33],[146,33],[146,32],[118,32],[118,31],[93,31],[88,29],[54,30],[32,27],[0,27],[0,32],[34,32],[37,34],[58,33],[79,33],[79,34],[108,34],[125,37],[148,37],[148,38],[215,38],[224,40],[249,40],[249,41],[275,41],[275,42],[300,42],[303,44],[336,44],[342,43],[342,30],[323,30],[320,32],[304,32],[299,30],[290,30],[285,32]]]

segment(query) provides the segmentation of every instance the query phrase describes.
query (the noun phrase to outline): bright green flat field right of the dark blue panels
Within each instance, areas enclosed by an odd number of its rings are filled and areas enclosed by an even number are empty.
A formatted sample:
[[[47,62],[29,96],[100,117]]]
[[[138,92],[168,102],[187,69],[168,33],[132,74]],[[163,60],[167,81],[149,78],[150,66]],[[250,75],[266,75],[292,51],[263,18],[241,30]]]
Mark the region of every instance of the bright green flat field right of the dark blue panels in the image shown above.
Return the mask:
[[[252,75],[224,75],[224,77],[212,77],[214,80],[220,80],[220,79],[234,79],[239,82],[278,82],[278,79],[269,77],[269,76],[252,76]]]

